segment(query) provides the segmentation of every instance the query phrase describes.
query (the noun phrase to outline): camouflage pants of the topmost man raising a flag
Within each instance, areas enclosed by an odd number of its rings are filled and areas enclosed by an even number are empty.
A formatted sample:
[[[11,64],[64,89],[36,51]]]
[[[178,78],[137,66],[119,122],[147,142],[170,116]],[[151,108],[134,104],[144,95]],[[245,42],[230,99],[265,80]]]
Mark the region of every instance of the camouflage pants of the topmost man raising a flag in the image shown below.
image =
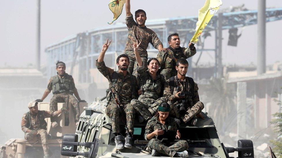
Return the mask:
[[[127,71],[134,75],[134,76],[137,76],[137,61],[135,59],[135,54],[133,51],[124,51],[124,54],[127,54],[128,57],[129,57],[129,66],[128,66],[128,69]],[[148,58],[145,58],[145,57],[141,57],[141,60],[142,62],[144,63],[145,65],[145,68],[147,69],[147,61],[148,61]],[[139,66],[142,66],[142,65],[139,65]]]

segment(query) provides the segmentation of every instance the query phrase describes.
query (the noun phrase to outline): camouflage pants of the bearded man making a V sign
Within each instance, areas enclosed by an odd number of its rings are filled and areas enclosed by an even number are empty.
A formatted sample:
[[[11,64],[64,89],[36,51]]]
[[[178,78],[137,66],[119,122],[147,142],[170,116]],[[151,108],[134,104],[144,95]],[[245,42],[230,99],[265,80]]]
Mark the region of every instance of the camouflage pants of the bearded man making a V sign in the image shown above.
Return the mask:
[[[133,124],[135,117],[133,106],[131,106],[130,104],[126,104],[125,106],[121,106],[121,108],[123,108],[122,113],[120,113],[120,110],[118,109],[118,106],[116,104],[109,104],[106,107],[106,115],[111,118],[113,133],[120,133],[119,119],[120,118],[122,119],[120,115],[124,115],[124,113],[126,116],[125,119],[126,119],[126,125],[128,127],[128,130],[129,132],[133,133],[134,132]]]

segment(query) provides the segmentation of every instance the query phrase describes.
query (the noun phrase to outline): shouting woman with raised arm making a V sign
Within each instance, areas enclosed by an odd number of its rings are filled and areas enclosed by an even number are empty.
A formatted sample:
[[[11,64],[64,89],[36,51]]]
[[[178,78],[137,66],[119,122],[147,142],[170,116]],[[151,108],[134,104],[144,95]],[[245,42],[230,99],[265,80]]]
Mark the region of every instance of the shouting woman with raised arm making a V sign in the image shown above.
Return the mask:
[[[141,43],[141,42],[140,42]],[[138,41],[133,45],[137,65],[137,80],[140,90],[139,97],[131,100],[130,104],[139,114],[139,122],[148,121],[155,115],[160,103],[167,102],[166,98],[162,97],[166,81],[163,75],[159,74],[159,61],[156,58],[151,58],[147,62],[148,70],[146,71],[145,63],[140,58]],[[138,45],[137,45],[138,44]],[[162,97],[162,98],[161,98]]]

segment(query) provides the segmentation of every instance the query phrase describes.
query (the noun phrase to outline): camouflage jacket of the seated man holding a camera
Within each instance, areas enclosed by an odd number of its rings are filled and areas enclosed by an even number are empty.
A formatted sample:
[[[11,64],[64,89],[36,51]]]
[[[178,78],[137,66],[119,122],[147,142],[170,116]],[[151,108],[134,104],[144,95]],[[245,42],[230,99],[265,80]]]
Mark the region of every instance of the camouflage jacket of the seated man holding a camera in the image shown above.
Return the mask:
[[[177,76],[174,77],[174,83],[175,83],[175,87],[173,89],[173,93],[171,94],[171,90],[170,90],[170,87],[169,87],[169,80],[166,81],[167,82],[167,86],[164,90],[164,96],[168,99],[168,101],[171,101],[172,103],[174,104],[180,104],[182,103],[182,98],[178,99],[175,97],[175,94],[177,92],[185,92],[184,91],[184,88],[186,87],[186,92],[190,92],[190,87],[191,87],[191,84],[188,83],[187,85],[187,78],[185,77],[184,81],[183,82],[180,82],[180,80],[178,79]],[[184,86],[183,86],[184,84]],[[200,101],[200,98],[199,98],[199,94],[198,94],[198,85],[197,83],[194,82],[194,94],[192,94],[192,96],[186,96],[186,108],[187,107],[190,107],[190,106],[193,106],[194,104],[196,104],[198,101]]]

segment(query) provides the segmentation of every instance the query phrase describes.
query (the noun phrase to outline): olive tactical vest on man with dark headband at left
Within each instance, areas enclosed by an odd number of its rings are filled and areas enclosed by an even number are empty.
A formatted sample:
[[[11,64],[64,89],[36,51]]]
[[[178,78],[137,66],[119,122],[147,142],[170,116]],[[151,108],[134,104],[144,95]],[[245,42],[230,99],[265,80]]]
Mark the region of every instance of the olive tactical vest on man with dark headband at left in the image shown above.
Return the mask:
[[[59,78],[58,75],[52,77],[53,94],[67,92],[73,94],[74,86],[72,84],[72,76],[65,74],[64,78]]]

